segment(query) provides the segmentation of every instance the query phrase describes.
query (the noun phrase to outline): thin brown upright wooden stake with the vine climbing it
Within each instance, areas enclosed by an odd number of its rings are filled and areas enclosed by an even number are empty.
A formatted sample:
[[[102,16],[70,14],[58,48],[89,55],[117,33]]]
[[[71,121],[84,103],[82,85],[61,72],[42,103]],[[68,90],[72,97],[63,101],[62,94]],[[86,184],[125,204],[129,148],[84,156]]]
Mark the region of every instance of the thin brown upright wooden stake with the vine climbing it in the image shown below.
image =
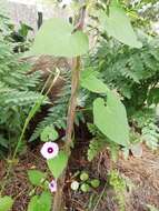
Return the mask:
[[[85,0],[80,1],[82,4]],[[74,27],[74,31],[82,30],[86,18],[86,6],[81,7],[77,24]],[[81,70],[81,58],[77,57],[72,62],[72,78],[71,78],[71,98],[69,102],[68,115],[67,115],[67,130],[66,130],[66,144],[64,151],[70,155],[71,154],[71,143],[72,143],[72,131],[77,108],[77,96],[79,90],[79,81],[80,81],[80,70]],[[64,197],[63,197],[63,187],[66,181],[66,172],[63,171],[61,177],[58,179],[58,189],[53,199],[53,208],[52,211],[64,211]]]

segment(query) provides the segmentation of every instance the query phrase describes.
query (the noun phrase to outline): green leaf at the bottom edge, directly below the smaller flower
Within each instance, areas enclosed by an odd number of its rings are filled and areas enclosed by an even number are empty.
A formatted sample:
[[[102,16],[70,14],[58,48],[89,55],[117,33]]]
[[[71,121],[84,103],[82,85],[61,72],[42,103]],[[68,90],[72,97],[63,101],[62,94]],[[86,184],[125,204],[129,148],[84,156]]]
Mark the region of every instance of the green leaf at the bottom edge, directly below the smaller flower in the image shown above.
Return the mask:
[[[28,205],[28,211],[50,211],[51,210],[51,194],[50,192],[42,192],[42,194],[31,198]]]

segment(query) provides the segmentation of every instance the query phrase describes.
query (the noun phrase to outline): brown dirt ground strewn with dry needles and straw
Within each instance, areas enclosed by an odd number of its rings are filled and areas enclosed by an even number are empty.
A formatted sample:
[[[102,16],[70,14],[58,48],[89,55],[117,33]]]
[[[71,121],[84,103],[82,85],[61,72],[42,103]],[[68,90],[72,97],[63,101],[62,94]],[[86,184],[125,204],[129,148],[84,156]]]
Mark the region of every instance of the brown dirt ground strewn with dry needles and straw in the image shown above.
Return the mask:
[[[120,211],[113,191],[106,188],[107,173],[111,167],[107,152],[102,152],[92,163],[88,163],[83,153],[82,142],[78,143],[78,153],[72,153],[68,178],[66,181],[66,198],[68,211]],[[80,155],[80,157],[79,157]],[[80,158],[80,159],[79,159]],[[72,164],[73,162],[73,164]],[[12,211],[26,211],[29,202],[31,187],[28,181],[27,170],[37,168],[46,170],[44,160],[39,154],[39,149],[28,151],[22,155],[8,181],[6,194],[16,198]],[[122,177],[129,178],[133,183],[132,190],[125,193],[126,211],[148,211],[147,204],[159,209],[159,153],[152,153],[146,147],[142,158],[130,157],[128,160],[118,159],[113,168],[118,169]],[[0,162],[0,180],[4,175],[6,164]],[[91,177],[99,177],[101,187],[90,193],[72,192],[70,190],[71,172],[88,170]],[[102,185],[103,184],[103,185]],[[105,191],[103,191],[105,189]],[[101,195],[101,193],[103,193]],[[93,203],[96,199],[96,203]]]

